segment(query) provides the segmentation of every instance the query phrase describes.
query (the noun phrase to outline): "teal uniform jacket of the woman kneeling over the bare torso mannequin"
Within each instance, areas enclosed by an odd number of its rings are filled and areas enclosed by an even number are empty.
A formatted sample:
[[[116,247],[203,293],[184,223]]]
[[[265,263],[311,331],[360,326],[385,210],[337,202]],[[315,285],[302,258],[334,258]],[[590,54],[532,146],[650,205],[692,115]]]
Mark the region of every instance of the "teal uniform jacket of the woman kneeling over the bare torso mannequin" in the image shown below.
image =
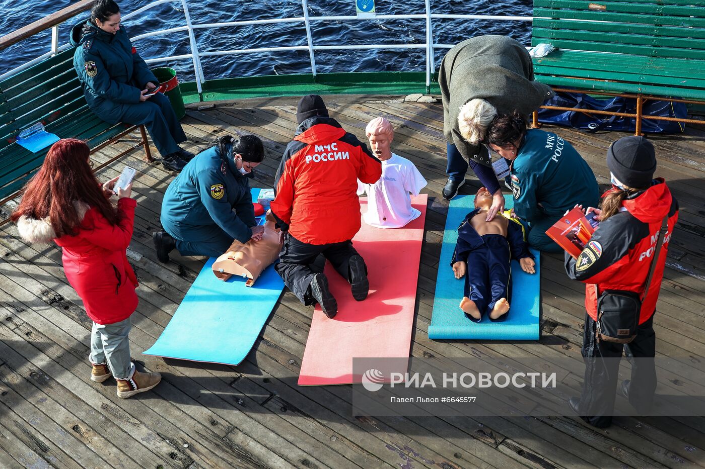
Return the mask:
[[[189,242],[212,239],[218,227],[241,243],[252,237],[257,221],[250,178],[235,168],[232,153],[226,159],[213,146],[171,181],[161,202],[161,225],[167,232]]]

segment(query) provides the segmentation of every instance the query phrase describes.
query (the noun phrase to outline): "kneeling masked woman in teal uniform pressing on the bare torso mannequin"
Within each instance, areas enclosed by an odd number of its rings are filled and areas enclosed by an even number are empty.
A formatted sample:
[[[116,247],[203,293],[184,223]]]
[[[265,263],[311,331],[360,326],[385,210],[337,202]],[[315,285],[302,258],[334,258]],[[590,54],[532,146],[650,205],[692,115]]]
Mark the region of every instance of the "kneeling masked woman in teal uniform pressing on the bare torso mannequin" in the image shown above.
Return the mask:
[[[229,135],[193,158],[166,188],[161,202],[161,226],[154,233],[157,258],[168,262],[176,247],[182,256],[217,257],[233,239],[260,239],[249,179],[264,159],[262,140]],[[234,210],[234,212],[233,212]]]

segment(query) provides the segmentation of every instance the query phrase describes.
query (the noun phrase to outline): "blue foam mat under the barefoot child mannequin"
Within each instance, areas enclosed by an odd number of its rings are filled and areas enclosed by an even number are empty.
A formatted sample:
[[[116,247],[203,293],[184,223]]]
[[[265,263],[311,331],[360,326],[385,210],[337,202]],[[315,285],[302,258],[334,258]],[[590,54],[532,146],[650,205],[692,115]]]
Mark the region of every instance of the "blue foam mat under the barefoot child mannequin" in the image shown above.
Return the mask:
[[[513,199],[508,198],[505,208],[512,206]],[[460,310],[465,277],[455,278],[450,261],[458,241],[458,225],[473,209],[472,195],[456,196],[450,201],[436,278],[429,339],[538,340],[541,287],[539,251],[535,249],[531,249],[531,252],[536,256],[536,273],[527,274],[517,261],[512,261],[513,291],[508,317],[504,322],[493,323],[483,316],[482,322],[473,323]]]

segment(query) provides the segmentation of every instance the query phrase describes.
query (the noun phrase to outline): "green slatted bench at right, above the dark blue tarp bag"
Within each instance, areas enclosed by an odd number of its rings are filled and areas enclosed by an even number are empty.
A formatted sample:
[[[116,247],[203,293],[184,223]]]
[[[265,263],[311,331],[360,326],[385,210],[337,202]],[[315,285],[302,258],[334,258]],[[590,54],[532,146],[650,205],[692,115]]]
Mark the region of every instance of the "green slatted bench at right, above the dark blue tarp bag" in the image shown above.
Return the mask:
[[[552,109],[702,123],[642,115],[646,99],[705,101],[705,4],[701,0],[534,0],[532,46],[556,51],[534,58],[536,80],[556,91],[637,99],[635,114]],[[537,124],[534,113],[534,125]]]

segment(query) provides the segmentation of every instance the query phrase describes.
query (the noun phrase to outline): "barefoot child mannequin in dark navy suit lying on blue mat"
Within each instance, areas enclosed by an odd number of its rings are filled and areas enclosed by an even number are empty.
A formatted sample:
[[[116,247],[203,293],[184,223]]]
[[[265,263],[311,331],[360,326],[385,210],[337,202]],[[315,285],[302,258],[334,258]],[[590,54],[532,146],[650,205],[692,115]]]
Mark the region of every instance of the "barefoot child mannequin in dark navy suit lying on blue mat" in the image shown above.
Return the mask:
[[[458,227],[458,244],[453,252],[455,278],[465,278],[465,296],[460,309],[470,320],[479,323],[482,314],[490,320],[507,318],[511,297],[510,260],[518,259],[522,270],[535,273],[534,256],[524,241],[518,223],[504,217],[487,221],[492,194],[484,187],[475,195],[475,210],[468,213]]]

